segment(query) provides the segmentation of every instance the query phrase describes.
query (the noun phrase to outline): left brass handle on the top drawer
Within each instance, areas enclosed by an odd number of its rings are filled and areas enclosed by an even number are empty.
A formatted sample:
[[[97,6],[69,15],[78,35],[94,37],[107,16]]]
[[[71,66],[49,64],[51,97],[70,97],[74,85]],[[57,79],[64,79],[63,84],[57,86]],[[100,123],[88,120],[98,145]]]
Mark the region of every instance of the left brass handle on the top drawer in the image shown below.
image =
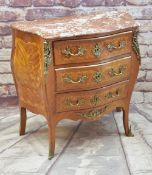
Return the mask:
[[[72,53],[71,49],[67,47],[62,51],[65,57],[77,57],[77,56],[83,56],[85,54],[86,50],[83,47],[79,47],[77,53]]]

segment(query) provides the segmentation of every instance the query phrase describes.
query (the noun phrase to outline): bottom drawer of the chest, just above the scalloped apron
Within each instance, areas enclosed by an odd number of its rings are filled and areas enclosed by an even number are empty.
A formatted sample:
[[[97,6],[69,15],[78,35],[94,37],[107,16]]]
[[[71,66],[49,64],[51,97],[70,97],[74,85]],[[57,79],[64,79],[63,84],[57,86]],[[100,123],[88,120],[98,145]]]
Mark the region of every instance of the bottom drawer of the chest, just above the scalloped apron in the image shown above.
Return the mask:
[[[98,107],[125,98],[127,91],[128,81],[124,81],[96,90],[56,94],[56,112]]]

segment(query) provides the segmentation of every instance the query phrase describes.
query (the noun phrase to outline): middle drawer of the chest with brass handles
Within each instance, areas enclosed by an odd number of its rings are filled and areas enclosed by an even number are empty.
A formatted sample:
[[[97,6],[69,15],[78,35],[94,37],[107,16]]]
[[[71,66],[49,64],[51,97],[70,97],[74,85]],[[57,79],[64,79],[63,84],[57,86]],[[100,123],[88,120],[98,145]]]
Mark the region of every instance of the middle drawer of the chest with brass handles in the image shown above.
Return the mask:
[[[131,57],[98,65],[56,69],[56,90],[87,90],[129,79]]]

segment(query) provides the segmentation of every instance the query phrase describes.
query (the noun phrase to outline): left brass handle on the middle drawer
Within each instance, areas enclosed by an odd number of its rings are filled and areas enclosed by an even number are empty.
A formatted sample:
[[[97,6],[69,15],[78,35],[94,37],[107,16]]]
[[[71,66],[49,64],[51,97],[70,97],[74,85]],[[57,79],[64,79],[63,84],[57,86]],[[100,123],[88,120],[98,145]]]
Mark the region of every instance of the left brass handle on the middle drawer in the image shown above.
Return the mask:
[[[67,75],[66,77],[64,77],[64,82],[72,84],[84,83],[87,80],[87,78],[88,77],[86,75],[81,75],[80,77],[78,77],[77,80],[73,80],[71,75]]]

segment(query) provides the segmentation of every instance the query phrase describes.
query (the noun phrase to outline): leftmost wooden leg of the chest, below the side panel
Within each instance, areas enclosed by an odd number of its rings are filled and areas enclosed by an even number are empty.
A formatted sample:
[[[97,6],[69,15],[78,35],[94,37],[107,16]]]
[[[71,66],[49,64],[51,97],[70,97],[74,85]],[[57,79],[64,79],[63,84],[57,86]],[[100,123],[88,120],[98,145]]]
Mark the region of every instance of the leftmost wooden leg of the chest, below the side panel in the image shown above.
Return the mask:
[[[20,130],[19,134],[24,135],[26,129],[26,108],[20,107]]]

